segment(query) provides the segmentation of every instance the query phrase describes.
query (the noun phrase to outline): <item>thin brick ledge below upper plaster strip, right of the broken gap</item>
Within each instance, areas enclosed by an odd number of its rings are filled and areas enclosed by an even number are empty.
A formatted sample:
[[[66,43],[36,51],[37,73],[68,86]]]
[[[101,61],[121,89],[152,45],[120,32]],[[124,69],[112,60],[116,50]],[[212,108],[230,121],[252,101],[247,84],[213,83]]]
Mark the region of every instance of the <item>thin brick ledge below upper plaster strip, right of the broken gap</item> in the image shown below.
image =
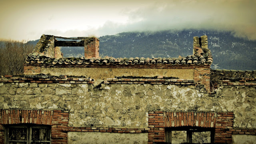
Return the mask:
[[[195,85],[194,80],[183,79],[142,79],[142,78],[107,78],[104,84],[177,84]]]

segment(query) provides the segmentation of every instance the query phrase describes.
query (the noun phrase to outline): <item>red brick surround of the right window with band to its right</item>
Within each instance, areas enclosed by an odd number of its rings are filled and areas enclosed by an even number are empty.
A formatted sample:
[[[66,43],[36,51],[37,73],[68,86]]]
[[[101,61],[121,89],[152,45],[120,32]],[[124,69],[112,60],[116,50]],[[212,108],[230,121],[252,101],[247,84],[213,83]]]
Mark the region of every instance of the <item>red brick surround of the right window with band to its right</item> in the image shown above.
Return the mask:
[[[148,144],[165,142],[165,128],[197,126],[215,128],[216,143],[232,143],[232,134],[254,134],[255,130],[234,130],[233,112],[149,112]]]

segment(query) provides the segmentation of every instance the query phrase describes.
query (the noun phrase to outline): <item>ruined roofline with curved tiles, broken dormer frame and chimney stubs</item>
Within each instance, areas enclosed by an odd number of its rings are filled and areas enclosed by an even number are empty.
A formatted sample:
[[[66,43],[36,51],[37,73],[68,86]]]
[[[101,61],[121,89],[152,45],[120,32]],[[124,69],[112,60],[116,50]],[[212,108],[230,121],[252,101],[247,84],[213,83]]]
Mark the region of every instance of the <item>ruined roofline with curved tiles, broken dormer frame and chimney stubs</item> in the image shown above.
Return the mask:
[[[55,41],[56,38],[63,38],[63,39],[72,39],[72,40],[85,40],[84,37],[78,38],[65,38],[60,36],[51,36],[51,35],[42,35],[41,41],[43,41],[44,37],[48,37],[49,39],[54,39],[54,44],[52,44],[56,53],[60,53],[60,50],[57,49],[57,46],[62,46],[62,44],[68,43],[76,43],[76,46],[83,46],[85,48],[85,58],[62,58],[62,56],[58,56],[58,54],[54,56],[48,56],[47,54],[39,54],[37,52],[31,53],[26,58],[26,64],[124,64],[124,65],[133,65],[133,64],[172,64],[172,65],[183,65],[183,64],[191,64],[191,65],[211,65],[212,64],[212,53],[207,48],[207,36],[201,36],[201,38],[194,37],[194,46],[193,46],[193,55],[186,56],[186,57],[179,57],[179,58],[113,58],[113,57],[104,57],[100,58],[99,56],[88,56],[90,53],[94,53],[99,49],[99,44],[92,44],[95,48],[88,48],[82,41],[74,42],[74,41]],[[91,38],[90,38],[91,39]],[[96,43],[99,42],[98,38],[92,38],[96,40]],[[88,38],[87,38],[88,40]],[[90,41],[90,40],[89,40]],[[202,42],[204,41],[204,42]],[[60,42],[60,43],[58,43]],[[42,43],[42,42],[41,42]],[[37,45],[41,44],[38,42]],[[52,42],[53,43],[53,42]],[[203,48],[200,46],[203,43]],[[51,43],[50,43],[51,44]],[[53,47],[52,46],[52,47]],[[42,46],[41,46],[42,47]],[[46,46],[48,48],[49,46]],[[57,50],[56,50],[57,49]],[[44,53],[44,52],[43,52]],[[95,53],[94,53],[95,54]],[[53,55],[53,54],[52,54]]]

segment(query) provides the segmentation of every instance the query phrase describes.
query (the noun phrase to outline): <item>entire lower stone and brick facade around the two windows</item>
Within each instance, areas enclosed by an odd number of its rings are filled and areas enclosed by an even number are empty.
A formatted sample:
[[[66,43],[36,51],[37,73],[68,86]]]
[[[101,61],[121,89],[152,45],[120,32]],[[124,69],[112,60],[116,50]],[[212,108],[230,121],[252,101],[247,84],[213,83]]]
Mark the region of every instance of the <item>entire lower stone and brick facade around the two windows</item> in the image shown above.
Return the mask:
[[[110,78],[97,83],[90,78],[6,76],[0,81],[0,140],[5,124],[34,123],[36,114],[47,111],[44,116],[52,116],[52,144],[90,143],[85,137],[100,140],[108,135],[114,138],[111,142],[122,137],[126,143],[164,142],[166,112],[178,112],[192,116],[186,119],[184,114],[180,125],[189,120],[195,126],[205,113],[202,126],[215,126],[215,142],[236,143],[256,138],[255,97],[255,83],[229,83],[210,95],[193,80]],[[25,120],[17,121],[19,114]]]

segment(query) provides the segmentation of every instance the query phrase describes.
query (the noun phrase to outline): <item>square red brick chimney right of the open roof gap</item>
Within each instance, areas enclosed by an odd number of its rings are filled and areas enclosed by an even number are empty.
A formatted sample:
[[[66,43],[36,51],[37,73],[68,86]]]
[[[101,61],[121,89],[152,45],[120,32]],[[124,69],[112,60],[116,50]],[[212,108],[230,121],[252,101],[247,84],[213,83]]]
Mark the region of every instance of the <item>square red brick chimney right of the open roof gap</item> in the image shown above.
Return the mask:
[[[98,38],[88,38],[84,40],[84,57],[99,57],[100,40]]]

